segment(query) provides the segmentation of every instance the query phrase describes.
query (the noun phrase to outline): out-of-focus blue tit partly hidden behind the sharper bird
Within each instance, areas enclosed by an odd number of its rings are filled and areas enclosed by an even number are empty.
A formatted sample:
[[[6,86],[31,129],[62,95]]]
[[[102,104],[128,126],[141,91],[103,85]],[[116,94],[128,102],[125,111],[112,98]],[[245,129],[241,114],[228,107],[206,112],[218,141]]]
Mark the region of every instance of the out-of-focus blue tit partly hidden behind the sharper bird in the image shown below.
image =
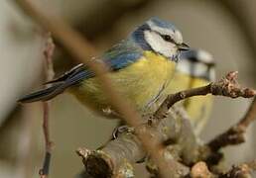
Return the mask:
[[[181,60],[167,94],[205,86],[215,80],[215,62],[212,55],[204,50],[187,50],[181,53]],[[166,94],[166,95],[167,95]],[[182,105],[192,120],[195,134],[200,134],[211,112],[211,95],[195,96],[183,101]]]

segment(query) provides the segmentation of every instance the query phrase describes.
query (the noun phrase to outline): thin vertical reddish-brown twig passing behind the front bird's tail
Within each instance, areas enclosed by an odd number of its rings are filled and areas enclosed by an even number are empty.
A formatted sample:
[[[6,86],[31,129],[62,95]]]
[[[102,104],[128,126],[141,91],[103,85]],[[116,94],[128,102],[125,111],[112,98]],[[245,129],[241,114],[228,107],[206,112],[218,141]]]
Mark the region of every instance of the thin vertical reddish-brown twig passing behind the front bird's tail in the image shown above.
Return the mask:
[[[46,48],[44,50],[44,58],[45,58],[45,72],[47,81],[50,81],[55,76],[54,65],[53,65],[53,55],[55,50],[55,44],[51,37],[51,34],[47,34],[47,43]],[[49,84],[51,85],[51,84]],[[47,87],[49,87],[49,85]],[[51,155],[52,155],[52,140],[50,137],[50,127],[49,127],[49,114],[50,114],[50,102],[43,102],[43,110],[44,110],[44,117],[43,117],[43,132],[45,135],[45,144],[46,144],[46,154],[43,163],[43,168],[40,170],[39,174],[41,178],[46,178],[49,175],[49,168],[51,163]]]

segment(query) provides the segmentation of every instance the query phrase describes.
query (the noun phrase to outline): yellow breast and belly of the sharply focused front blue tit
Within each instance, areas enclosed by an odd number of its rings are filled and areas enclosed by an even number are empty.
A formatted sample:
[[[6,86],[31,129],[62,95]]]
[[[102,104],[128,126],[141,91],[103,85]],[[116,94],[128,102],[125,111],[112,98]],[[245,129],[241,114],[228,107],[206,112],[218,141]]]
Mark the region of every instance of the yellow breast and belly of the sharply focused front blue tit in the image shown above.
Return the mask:
[[[172,79],[176,62],[162,55],[145,51],[137,62],[110,72],[115,88],[138,110],[148,110],[161,96]],[[109,98],[102,92],[96,77],[87,79],[71,90],[76,98],[96,111],[109,107]]]

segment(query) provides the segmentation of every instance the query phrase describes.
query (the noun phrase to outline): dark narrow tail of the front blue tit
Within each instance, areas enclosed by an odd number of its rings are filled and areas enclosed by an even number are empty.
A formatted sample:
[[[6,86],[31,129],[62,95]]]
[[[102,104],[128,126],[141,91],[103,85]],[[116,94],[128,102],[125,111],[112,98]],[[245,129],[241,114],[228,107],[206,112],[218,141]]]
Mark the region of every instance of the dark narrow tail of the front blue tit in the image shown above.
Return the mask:
[[[49,88],[42,89],[42,90],[36,91],[34,93],[25,95],[24,97],[20,98],[18,100],[18,102],[32,103],[32,102],[37,102],[37,101],[48,101],[63,92],[64,92],[64,88],[62,87],[62,84],[57,83]]]

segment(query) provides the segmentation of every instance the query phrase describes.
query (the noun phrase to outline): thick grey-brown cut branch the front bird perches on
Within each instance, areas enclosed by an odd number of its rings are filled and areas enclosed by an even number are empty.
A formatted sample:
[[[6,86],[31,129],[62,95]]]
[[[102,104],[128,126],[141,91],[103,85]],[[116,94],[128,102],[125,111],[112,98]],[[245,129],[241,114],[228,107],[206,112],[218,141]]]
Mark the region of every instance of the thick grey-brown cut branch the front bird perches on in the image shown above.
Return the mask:
[[[178,116],[175,117],[175,115],[175,112],[170,110],[169,117],[166,120],[162,120],[158,126],[152,128],[147,123],[144,123],[132,133],[118,134],[116,139],[109,141],[99,150],[78,149],[79,155],[83,158],[85,170],[95,177],[98,176],[97,174],[103,174],[104,172],[116,175],[120,167],[143,160],[147,153],[143,149],[136,132],[148,130],[151,133],[151,137],[159,140],[159,142],[169,144],[170,140],[173,140],[174,143],[177,143],[176,147],[173,146],[169,149],[164,148],[165,145],[162,144],[159,145],[161,148],[156,148],[157,150],[162,150],[159,156],[163,156],[162,159],[165,160],[166,170],[168,170],[169,174],[174,177],[189,174],[188,167],[178,162],[178,160],[180,160],[180,156],[183,156],[188,163],[195,161],[198,157],[198,145],[192,133],[190,121]],[[189,149],[190,151],[186,151]],[[174,152],[177,152],[177,157],[174,156]],[[95,165],[95,161],[98,161],[97,165]],[[107,166],[102,166],[102,164]],[[98,165],[101,165],[100,169],[97,169]],[[159,174],[159,171],[157,171],[159,170],[158,166],[156,166],[156,169],[154,166],[155,162],[154,164],[147,162],[147,168],[152,170],[152,173],[157,172]],[[107,171],[103,171],[102,167],[107,168]]]

